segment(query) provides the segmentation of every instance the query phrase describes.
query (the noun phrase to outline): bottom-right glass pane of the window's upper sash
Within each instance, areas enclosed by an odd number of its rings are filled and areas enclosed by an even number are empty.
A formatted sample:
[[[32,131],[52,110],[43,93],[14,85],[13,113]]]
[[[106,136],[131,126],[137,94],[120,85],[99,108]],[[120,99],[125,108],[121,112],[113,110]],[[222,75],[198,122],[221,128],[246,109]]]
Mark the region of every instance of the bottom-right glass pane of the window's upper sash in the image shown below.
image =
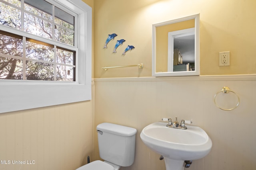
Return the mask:
[[[74,32],[55,25],[55,40],[74,46]]]

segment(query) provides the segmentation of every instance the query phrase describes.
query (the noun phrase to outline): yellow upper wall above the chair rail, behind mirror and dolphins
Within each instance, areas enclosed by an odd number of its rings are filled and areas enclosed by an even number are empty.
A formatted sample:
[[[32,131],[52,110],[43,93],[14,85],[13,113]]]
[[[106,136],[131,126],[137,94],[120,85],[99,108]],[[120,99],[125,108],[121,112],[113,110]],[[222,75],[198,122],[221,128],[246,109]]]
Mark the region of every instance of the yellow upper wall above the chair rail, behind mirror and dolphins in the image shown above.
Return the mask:
[[[152,24],[200,13],[200,74],[255,74],[254,0],[96,0],[94,2],[94,78],[152,75]],[[250,12],[248,12],[250,11]],[[103,49],[108,34],[114,41]],[[125,39],[117,53],[116,40]],[[122,52],[127,45],[135,49]],[[218,66],[218,53],[230,51],[230,66]],[[143,63],[102,70],[103,66]]]

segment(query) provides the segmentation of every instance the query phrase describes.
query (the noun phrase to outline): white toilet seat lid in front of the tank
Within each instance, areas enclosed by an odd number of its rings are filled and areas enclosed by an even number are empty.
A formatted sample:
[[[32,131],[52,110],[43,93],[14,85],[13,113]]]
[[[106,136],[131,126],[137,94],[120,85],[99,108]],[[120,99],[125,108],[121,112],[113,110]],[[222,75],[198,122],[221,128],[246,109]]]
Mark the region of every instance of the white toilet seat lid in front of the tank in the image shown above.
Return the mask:
[[[77,168],[76,170],[114,170],[114,167],[110,164],[102,162],[101,160],[95,160],[89,164]]]

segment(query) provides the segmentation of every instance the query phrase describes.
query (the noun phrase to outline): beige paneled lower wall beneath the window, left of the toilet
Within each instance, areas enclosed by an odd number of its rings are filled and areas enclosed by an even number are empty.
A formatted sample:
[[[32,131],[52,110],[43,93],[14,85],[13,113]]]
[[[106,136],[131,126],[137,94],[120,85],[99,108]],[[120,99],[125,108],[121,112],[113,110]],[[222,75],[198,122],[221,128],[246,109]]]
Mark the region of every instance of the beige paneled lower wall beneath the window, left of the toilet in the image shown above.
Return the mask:
[[[92,102],[0,114],[1,170],[74,170],[92,157]],[[12,164],[33,161],[35,164]]]

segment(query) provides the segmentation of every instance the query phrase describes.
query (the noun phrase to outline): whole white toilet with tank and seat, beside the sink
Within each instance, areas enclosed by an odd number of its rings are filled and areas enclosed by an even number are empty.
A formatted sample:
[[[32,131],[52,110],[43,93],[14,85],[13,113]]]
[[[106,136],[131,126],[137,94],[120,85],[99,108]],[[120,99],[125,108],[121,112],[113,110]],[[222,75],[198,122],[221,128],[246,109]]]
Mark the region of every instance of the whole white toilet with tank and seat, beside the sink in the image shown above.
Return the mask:
[[[132,127],[101,123],[97,126],[100,158],[76,170],[119,170],[134,162],[135,135]]]

